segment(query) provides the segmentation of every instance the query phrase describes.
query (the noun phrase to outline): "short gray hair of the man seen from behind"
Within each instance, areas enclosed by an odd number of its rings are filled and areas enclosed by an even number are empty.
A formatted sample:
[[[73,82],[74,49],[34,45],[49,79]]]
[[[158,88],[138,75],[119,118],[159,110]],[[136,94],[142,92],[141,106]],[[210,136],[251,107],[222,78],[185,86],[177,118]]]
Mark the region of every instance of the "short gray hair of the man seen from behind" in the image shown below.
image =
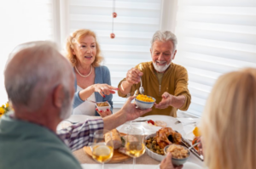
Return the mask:
[[[66,64],[65,64],[66,62]],[[54,42],[27,42],[9,55],[4,70],[5,88],[12,104],[37,110],[57,85],[70,87],[73,71]]]

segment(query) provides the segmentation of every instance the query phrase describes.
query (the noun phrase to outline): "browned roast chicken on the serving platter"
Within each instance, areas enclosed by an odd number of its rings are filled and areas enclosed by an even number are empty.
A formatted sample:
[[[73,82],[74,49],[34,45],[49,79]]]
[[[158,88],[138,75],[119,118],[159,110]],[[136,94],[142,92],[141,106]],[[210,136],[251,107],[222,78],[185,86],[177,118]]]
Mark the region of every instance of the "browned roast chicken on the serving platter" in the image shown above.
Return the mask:
[[[163,127],[156,132],[156,142],[161,149],[164,149],[169,144],[180,144],[182,135],[172,130],[171,127]]]

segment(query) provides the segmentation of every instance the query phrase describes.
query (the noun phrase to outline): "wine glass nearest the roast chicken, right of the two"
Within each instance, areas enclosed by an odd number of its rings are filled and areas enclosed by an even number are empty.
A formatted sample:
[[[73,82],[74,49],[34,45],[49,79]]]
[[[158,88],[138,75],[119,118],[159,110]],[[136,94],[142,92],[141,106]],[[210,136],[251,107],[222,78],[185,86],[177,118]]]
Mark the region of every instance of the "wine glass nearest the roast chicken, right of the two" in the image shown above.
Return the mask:
[[[127,131],[125,139],[125,149],[128,155],[133,157],[133,168],[136,163],[136,158],[145,153],[144,131],[142,127],[132,126]]]

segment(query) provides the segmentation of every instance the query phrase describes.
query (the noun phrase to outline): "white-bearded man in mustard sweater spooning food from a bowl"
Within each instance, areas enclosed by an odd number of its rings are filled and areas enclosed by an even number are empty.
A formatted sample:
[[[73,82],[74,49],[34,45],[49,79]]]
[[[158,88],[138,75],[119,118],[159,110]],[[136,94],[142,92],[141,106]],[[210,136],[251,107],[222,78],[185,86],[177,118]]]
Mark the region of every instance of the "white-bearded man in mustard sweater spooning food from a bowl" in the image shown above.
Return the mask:
[[[172,63],[177,53],[177,37],[171,31],[156,31],[151,40],[152,61],[128,70],[125,79],[119,82],[119,96],[137,94],[142,78],[144,94],[156,99],[152,111],[146,115],[177,116],[177,109],[188,110],[191,95],[188,89],[188,73]]]

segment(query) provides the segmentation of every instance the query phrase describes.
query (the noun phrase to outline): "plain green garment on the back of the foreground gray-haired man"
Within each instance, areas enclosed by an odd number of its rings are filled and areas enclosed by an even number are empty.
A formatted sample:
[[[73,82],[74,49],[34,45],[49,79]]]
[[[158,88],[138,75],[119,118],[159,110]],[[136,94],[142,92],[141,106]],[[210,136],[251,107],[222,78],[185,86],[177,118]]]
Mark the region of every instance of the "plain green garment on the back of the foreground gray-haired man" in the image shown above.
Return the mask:
[[[0,168],[81,169],[55,132],[3,115],[0,120]]]

